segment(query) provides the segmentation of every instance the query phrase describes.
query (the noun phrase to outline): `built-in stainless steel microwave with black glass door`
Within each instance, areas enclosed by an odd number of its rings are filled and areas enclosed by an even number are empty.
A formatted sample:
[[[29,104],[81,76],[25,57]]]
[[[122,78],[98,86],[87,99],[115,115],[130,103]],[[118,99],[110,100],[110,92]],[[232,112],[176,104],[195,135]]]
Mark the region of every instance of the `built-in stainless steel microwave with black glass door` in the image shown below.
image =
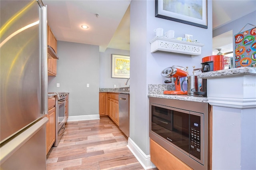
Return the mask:
[[[150,97],[149,136],[193,169],[207,169],[208,103]]]

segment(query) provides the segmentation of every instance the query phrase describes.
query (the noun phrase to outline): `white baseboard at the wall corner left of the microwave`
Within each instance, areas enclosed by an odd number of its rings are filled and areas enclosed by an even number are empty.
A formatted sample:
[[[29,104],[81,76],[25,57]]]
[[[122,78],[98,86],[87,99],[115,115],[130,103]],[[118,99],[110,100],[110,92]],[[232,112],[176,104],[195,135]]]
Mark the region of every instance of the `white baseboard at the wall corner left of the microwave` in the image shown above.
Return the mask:
[[[130,149],[135,158],[140,162],[145,170],[156,168],[156,166],[150,161],[150,155],[146,155],[131,138],[128,138],[127,147]]]

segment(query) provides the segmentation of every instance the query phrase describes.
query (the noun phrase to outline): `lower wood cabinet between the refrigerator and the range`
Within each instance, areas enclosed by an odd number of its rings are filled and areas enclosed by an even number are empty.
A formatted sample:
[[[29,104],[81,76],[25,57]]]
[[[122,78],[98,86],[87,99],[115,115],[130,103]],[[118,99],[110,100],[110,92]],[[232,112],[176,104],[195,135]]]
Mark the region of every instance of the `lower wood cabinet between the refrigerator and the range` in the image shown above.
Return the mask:
[[[56,109],[55,98],[48,98],[48,113],[47,117],[49,121],[46,123],[46,154],[55,142],[55,124],[56,124]]]

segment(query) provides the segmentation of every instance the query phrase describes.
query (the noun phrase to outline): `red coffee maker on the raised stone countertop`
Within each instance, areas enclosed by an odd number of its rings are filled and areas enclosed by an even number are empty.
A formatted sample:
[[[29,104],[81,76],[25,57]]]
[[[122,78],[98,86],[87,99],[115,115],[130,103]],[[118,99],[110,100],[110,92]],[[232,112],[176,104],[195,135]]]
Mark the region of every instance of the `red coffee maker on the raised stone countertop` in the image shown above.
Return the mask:
[[[224,55],[210,55],[202,58],[202,72],[224,69]]]

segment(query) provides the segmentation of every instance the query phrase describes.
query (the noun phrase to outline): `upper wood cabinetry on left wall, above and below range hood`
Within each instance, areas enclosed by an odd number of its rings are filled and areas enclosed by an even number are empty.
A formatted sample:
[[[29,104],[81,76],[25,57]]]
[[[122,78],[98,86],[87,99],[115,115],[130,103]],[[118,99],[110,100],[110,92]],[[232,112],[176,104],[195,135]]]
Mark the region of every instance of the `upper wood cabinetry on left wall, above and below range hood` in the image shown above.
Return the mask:
[[[54,37],[50,26],[47,29],[48,42],[47,45],[50,45],[52,49],[57,53],[57,39]],[[48,75],[56,76],[57,75],[57,59],[48,58]]]

